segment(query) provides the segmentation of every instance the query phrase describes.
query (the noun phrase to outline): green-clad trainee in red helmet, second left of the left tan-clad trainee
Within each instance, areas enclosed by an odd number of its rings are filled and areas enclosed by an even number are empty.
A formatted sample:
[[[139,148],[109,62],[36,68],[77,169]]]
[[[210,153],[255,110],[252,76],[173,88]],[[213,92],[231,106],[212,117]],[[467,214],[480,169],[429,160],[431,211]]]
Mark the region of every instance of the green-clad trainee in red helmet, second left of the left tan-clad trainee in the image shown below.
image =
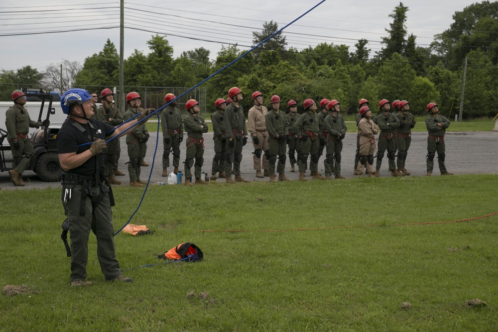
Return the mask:
[[[213,140],[215,143],[215,156],[211,167],[211,181],[216,180],[216,173],[220,179],[225,179],[225,160],[227,159],[227,131],[223,123],[223,116],[227,103],[223,98],[218,98],[215,102],[216,111],[211,115],[213,125]]]

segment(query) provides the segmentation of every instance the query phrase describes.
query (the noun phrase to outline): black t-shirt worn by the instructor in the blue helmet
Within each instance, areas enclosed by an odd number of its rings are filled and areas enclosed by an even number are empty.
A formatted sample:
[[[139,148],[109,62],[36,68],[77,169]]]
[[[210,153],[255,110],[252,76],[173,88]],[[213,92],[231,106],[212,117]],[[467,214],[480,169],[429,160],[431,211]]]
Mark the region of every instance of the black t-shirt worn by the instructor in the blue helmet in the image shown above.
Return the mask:
[[[79,123],[71,118],[67,118],[62,124],[55,139],[57,143],[57,153],[82,153],[90,149],[91,144],[84,146],[78,145],[93,142],[97,138],[106,139],[106,133],[113,129],[114,127],[112,125],[93,118],[91,118],[88,123]],[[82,165],[70,169],[68,173],[95,175],[97,158],[99,159],[100,174],[104,174],[103,153],[99,153],[97,156],[88,159]]]

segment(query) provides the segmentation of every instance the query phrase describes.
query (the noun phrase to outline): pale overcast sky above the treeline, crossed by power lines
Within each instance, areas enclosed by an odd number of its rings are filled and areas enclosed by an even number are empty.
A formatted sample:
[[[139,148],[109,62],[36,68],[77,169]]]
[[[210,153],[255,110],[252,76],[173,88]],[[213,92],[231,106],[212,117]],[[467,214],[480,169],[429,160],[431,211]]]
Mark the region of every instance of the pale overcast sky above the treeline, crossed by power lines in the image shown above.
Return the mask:
[[[204,47],[215,59],[223,43],[252,44],[252,31],[264,21],[279,27],[305,13],[320,0],[125,0],[124,58],[134,49],[147,54],[146,41],[155,33],[166,35],[174,57],[183,51]],[[450,27],[455,11],[462,11],[469,0],[407,0],[406,26],[427,46],[434,34]],[[43,72],[62,60],[78,61],[103,49],[109,38],[119,51],[119,1],[102,0],[1,0],[0,69],[16,70],[31,66]],[[71,5],[68,5],[71,3]],[[370,41],[372,53],[381,47],[392,19],[388,14],[399,0],[326,0],[284,30],[288,47],[298,50],[321,42],[345,44],[355,51],[358,39]],[[62,9],[62,10],[61,10]],[[48,11],[43,11],[48,10]],[[102,27],[114,27],[103,29]],[[100,28],[97,30],[6,36],[30,32]],[[143,29],[147,31],[140,31]],[[209,41],[189,39],[198,38]],[[241,49],[249,49],[240,47]]]

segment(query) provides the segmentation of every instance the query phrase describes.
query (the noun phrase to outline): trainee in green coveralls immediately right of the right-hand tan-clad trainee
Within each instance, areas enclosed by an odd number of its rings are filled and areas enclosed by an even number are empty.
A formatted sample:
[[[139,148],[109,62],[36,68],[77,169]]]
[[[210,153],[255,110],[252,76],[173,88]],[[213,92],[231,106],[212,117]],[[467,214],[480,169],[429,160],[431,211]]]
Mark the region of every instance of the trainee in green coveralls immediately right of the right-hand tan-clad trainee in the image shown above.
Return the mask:
[[[389,101],[382,99],[378,103],[380,113],[377,115],[377,125],[380,129],[378,135],[377,163],[375,165],[375,177],[380,177],[380,166],[382,158],[387,149],[387,160],[391,176],[402,176],[396,170],[396,128],[399,127],[399,119],[390,113]]]

